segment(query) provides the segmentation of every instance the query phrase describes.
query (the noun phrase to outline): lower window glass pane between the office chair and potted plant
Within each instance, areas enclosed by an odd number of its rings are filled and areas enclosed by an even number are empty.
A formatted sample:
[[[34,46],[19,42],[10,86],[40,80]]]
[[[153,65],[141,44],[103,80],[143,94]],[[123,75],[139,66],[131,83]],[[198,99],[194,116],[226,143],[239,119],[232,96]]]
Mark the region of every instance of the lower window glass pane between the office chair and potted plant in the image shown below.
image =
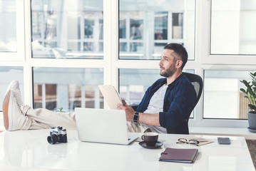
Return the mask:
[[[250,72],[206,70],[203,118],[247,119],[248,100],[240,88],[250,81]]]

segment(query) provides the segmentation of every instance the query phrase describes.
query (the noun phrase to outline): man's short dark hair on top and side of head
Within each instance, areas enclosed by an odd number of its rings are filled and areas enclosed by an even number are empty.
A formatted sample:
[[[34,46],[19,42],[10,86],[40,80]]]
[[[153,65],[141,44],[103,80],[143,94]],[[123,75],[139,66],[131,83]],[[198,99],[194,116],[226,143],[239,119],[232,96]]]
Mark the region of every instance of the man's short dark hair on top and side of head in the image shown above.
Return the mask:
[[[177,61],[178,59],[181,59],[181,61],[183,61],[183,65],[180,67],[181,70],[183,70],[188,61],[188,52],[186,49],[178,43],[169,43],[165,45],[164,49],[173,50],[178,55],[178,58],[175,56],[174,60]]]

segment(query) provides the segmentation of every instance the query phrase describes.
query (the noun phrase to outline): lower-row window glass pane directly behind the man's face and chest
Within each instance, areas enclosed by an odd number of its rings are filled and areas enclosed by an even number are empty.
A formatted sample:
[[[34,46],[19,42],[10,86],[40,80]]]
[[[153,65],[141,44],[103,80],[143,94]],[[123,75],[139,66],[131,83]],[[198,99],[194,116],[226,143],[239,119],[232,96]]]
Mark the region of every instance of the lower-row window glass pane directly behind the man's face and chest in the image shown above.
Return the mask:
[[[193,70],[184,72],[194,73]],[[159,78],[159,69],[119,69],[119,92],[129,105],[138,105],[145,91]],[[193,117],[193,114],[190,115]]]

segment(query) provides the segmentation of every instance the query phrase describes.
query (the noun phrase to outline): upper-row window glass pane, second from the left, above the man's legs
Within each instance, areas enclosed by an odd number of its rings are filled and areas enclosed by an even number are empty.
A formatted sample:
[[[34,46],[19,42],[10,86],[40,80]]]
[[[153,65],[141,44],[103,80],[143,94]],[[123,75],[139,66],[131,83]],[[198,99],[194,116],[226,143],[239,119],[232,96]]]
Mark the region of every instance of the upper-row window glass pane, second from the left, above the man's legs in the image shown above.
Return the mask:
[[[103,58],[103,0],[32,0],[33,58]]]

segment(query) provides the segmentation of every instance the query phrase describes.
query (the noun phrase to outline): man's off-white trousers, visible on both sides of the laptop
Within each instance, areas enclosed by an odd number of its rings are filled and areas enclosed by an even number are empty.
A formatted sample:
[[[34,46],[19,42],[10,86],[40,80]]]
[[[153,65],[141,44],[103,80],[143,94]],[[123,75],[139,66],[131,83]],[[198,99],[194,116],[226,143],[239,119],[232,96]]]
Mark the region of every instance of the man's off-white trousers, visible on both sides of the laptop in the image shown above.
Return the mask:
[[[45,108],[33,109],[29,105],[24,106],[22,113],[29,118],[29,122],[26,122],[24,125],[25,130],[48,129],[52,126],[76,129],[75,113],[53,112]],[[126,123],[127,130],[130,133],[144,133],[148,131],[147,125],[132,122]]]

